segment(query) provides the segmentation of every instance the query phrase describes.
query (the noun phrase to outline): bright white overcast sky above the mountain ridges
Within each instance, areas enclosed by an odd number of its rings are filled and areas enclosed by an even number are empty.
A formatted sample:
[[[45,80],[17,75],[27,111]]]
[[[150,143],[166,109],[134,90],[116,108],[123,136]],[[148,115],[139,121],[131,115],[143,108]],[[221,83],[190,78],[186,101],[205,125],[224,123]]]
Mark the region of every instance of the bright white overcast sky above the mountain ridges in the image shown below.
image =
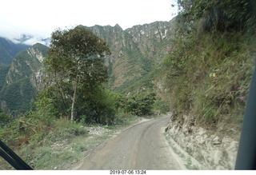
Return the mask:
[[[48,38],[57,28],[134,25],[170,21],[176,0],[2,0],[0,36]],[[177,6],[176,6],[177,7]]]

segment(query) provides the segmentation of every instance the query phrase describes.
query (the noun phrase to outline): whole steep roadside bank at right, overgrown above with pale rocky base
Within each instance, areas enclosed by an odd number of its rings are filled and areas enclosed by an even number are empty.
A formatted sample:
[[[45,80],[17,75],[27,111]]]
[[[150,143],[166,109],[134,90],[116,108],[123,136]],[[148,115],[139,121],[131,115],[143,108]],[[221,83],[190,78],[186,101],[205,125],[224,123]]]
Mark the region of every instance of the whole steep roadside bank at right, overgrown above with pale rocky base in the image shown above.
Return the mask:
[[[206,169],[234,169],[254,71],[256,3],[200,0],[180,6],[162,69],[173,110],[166,132]]]

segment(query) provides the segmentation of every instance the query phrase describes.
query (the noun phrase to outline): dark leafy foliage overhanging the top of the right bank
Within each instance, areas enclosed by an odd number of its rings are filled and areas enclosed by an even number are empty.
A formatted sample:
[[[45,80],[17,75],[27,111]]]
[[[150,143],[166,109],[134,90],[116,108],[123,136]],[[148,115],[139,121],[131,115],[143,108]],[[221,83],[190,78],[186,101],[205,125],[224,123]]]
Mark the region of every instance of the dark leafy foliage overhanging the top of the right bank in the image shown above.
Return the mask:
[[[248,29],[255,23],[253,0],[178,0],[187,23],[200,20],[202,30],[230,32]]]

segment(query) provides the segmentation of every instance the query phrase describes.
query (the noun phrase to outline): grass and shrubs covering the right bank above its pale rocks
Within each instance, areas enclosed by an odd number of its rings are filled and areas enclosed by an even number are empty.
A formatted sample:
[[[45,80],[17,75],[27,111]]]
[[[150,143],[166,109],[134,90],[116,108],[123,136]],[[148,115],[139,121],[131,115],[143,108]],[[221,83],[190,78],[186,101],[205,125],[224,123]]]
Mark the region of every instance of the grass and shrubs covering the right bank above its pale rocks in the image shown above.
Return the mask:
[[[254,68],[255,3],[180,2],[179,28],[163,60],[171,108],[208,125],[239,123]]]

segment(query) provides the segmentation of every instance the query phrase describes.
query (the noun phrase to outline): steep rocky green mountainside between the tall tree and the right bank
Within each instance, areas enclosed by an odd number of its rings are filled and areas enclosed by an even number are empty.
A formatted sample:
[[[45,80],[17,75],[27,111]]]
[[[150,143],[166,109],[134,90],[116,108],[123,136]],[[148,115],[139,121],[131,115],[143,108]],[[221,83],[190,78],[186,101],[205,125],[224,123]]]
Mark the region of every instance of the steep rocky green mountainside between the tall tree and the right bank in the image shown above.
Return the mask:
[[[153,89],[152,70],[166,54],[174,30],[174,20],[153,22],[122,30],[118,25],[90,27],[110,46],[108,59],[110,89],[129,93],[135,89]]]

